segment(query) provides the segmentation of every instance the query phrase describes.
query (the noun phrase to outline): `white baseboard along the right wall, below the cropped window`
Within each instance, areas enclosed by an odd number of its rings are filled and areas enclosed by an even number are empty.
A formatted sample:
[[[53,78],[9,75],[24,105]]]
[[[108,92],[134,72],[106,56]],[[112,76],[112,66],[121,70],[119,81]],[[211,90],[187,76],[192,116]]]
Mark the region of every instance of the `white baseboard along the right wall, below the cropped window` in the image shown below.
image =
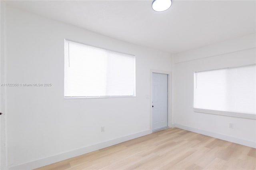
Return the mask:
[[[184,129],[184,130],[188,130],[188,131],[191,131],[191,132],[204,134],[206,136],[211,136],[211,137],[214,137],[214,138],[227,140],[229,142],[242,144],[242,145],[249,146],[249,147],[252,147],[252,148],[256,148],[256,142],[253,142],[253,141],[244,140],[244,139],[240,139],[240,138],[235,138],[235,137],[232,137],[232,136],[227,136],[227,135],[220,134],[220,133],[214,133],[214,132],[210,132],[210,131],[206,131],[206,130],[202,130],[202,129],[198,129],[198,128],[187,127],[187,126],[180,125],[180,124],[175,124],[175,127],[181,128],[181,129]]]

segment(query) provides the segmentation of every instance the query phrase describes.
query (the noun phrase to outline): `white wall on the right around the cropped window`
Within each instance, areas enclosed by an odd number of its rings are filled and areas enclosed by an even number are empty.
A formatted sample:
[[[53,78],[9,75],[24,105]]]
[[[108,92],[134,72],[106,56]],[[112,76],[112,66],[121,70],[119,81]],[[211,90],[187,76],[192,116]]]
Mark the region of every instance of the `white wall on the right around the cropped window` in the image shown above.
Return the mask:
[[[256,121],[195,113],[194,71],[256,63],[255,34],[174,55],[174,103],[176,127],[256,147]],[[229,123],[234,128],[229,128]]]

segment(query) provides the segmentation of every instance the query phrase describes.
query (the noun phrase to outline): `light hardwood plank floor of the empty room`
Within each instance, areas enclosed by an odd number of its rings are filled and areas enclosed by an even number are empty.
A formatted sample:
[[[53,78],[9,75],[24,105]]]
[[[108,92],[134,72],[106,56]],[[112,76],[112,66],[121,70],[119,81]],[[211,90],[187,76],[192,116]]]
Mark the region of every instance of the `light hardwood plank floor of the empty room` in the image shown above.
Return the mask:
[[[256,149],[168,128],[37,170],[255,170]]]

